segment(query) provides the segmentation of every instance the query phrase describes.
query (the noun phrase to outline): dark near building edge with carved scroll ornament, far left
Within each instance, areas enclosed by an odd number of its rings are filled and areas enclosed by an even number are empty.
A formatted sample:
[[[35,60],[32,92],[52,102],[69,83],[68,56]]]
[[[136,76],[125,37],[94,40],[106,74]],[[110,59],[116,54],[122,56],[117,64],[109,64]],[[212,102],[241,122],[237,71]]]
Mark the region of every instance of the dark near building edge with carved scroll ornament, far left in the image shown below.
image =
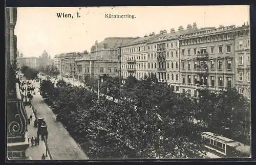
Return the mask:
[[[6,149],[7,159],[28,159],[27,138],[28,116],[20,95],[18,76],[11,67],[16,58],[16,37],[14,29],[17,20],[17,8],[5,8],[5,57],[6,57]]]

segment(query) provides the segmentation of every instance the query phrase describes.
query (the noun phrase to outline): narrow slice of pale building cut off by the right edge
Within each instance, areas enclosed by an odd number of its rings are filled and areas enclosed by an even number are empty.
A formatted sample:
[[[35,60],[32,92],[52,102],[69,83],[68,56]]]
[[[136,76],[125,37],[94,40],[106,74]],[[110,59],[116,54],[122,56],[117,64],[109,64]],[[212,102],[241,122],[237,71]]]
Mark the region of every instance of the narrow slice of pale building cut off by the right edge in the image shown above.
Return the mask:
[[[234,30],[234,56],[236,87],[244,97],[251,97],[250,75],[250,27],[249,24]]]

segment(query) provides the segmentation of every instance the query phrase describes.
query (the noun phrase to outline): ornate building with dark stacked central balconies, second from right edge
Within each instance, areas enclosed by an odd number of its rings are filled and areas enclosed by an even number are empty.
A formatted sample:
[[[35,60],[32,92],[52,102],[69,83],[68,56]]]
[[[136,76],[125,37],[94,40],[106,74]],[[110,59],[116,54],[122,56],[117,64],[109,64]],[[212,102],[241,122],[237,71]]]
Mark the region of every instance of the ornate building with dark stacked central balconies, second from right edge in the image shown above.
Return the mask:
[[[182,92],[234,87],[234,26],[204,28],[180,36]]]

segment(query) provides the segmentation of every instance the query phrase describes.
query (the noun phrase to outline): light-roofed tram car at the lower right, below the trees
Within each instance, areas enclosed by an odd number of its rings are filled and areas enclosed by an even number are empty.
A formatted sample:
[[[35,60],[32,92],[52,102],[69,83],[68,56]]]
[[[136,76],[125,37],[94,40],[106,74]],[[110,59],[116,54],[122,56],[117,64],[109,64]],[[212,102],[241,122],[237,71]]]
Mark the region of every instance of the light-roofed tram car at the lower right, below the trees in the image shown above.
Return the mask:
[[[201,136],[204,147],[210,153],[216,154],[223,158],[236,157],[236,154],[238,153],[243,157],[250,156],[250,146],[212,132],[202,132]]]

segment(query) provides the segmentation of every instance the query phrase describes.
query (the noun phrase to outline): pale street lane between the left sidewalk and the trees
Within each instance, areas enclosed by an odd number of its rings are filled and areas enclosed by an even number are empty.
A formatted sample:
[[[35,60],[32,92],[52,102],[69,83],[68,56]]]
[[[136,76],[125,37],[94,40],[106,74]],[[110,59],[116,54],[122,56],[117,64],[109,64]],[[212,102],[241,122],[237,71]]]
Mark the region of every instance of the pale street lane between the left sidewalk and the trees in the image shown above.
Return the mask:
[[[56,121],[55,114],[39,95],[39,82],[33,82],[33,84],[37,92],[32,100],[32,105],[37,110],[37,117],[43,117],[46,121],[49,133],[47,142],[52,159],[88,159],[66,128]]]

